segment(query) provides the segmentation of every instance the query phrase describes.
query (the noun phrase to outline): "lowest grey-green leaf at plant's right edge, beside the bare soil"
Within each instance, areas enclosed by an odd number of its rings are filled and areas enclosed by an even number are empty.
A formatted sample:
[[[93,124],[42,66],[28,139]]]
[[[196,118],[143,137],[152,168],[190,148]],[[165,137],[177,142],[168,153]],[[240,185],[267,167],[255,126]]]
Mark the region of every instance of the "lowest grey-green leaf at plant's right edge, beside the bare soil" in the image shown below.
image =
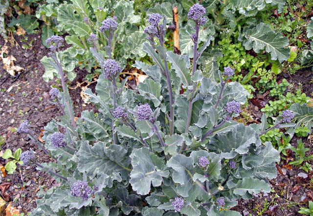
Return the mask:
[[[249,194],[258,194],[261,191],[269,193],[270,187],[264,180],[245,177],[238,181],[233,190],[234,194],[237,195],[244,195],[246,194],[246,192],[248,192]]]

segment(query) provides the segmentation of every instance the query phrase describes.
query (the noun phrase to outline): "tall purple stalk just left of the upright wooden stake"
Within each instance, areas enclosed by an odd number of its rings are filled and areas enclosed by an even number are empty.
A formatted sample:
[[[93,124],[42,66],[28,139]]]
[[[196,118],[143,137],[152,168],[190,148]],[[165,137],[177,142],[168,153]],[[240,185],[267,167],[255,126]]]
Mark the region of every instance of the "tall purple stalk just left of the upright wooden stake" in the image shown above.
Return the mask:
[[[158,40],[160,42],[160,45],[164,47],[163,40],[161,37],[163,36],[160,36]],[[165,65],[166,81],[167,81],[167,86],[168,86],[168,91],[169,91],[169,96],[170,96],[170,136],[172,136],[174,133],[174,98],[173,98],[171,77],[170,77],[170,72],[168,69],[167,58],[166,58],[165,53],[163,53],[163,60],[164,60],[164,65]]]

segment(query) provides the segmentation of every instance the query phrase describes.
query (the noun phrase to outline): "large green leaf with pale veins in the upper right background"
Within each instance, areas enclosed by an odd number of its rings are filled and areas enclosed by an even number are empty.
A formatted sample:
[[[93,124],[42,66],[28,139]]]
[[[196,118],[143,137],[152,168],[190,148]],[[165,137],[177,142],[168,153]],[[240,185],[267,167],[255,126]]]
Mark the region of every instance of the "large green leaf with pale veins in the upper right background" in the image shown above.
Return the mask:
[[[246,38],[243,45],[246,50],[253,48],[255,52],[265,49],[271,55],[271,60],[286,61],[289,58],[290,49],[285,48],[289,44],[287,37],[282,33],[275,33],[271,30],[270,25],[263,22],[256,26],[246,28],[243,32]]]

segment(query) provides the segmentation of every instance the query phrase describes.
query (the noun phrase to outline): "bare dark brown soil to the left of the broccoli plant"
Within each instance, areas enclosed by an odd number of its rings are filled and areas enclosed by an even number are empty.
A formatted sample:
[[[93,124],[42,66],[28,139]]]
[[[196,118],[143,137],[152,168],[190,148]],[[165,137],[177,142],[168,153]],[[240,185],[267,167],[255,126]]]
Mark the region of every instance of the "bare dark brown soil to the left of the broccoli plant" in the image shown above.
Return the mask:
[[[58,108],[51,106],[48,102],[49,90],[51,86],[60,86],[58,82],[50,81],[46,83],[42,76],[45,72],[44,66],[40,60],[48,54],[49,50],[42,45],[41,34],[27,35],[29,49],[23,49],[21,42],[23,36],[14,36],[16,44],[5,43],[0,38],[0,46],[9,46],[7,56],[13,55],[16,58],[14,65],[24,68],[20,76],[14,82],[14,78],[6,73],[0,60],[0,137],[3,137],[5,143],[0,146],[2,152],[11,149],[13,152],[18,148],[27,151],[30,148],[36,152],[39,162],[49,162],[51,159],[25,134],[18,134],[16,129],[23,120],[29,120],[36,137],[41,137],[45,125],[61,112]],[[4,56],[5,57],[5,56]],[[70,95],[73,101],[76,116],[79,116],[82,110],[91,108],[91,105],[83,107],[81,100],[81,88],[76,87],[76,83],[82,83],[86,73],[82,70],[76,70],[77,77],[70,84]],[[3,82],[3,83],[2,83]],[[94,87],[91,84],[89,87]],[[75,88],[76,87],[76,88]],[[1,141],[1,140],[0,140]],[[3,166],[8,160],[0,159]],[[36,194],[43,187],[49,189],[55,185],[54,177],[36,171],[35,166],[20,166],[13,174],[3,173],[0,178],[0,195],[7,201],[12,202],[12,206],[17,207],[21,212],[30,212],[36,207]]]

